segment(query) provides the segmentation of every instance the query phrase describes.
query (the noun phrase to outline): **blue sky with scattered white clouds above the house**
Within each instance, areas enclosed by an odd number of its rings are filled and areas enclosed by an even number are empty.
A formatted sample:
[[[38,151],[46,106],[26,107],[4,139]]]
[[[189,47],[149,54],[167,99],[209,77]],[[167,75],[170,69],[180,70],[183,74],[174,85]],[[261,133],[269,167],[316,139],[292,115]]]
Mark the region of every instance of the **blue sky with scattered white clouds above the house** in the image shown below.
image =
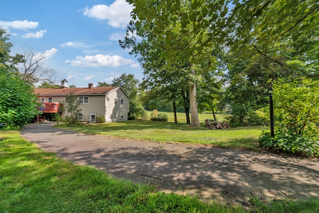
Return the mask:
[[[5,0],[1,8],[11,55],[45,54],[42,66],[54,69],[57,80],[86,87],[125,72],[143,77],[137,58],[118,43],[133,9],[125,0]]]

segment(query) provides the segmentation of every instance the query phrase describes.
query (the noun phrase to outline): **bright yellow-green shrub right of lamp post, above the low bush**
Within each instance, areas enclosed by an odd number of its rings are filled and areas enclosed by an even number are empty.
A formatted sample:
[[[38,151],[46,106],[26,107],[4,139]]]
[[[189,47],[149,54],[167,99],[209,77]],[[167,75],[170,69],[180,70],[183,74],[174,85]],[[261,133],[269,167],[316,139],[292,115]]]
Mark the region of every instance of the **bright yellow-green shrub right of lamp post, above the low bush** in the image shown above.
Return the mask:
[[[274,88],[274,115],[280,128],[311,137],[319,121],[319,80],[280,80]]]

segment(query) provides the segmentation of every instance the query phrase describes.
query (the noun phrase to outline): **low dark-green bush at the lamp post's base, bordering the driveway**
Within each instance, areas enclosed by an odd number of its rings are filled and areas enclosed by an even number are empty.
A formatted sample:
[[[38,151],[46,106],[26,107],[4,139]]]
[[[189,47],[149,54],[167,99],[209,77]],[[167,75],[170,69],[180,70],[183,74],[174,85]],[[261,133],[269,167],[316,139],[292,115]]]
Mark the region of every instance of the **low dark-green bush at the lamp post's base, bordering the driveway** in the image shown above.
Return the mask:
[[[292,155],[319,157],[318,135],[307,137],[278,130],[275,132],[275,138],[271,138],[269,132],[263,131],[259,137],[259,144],[263,148],[271,151],[285,152]]]

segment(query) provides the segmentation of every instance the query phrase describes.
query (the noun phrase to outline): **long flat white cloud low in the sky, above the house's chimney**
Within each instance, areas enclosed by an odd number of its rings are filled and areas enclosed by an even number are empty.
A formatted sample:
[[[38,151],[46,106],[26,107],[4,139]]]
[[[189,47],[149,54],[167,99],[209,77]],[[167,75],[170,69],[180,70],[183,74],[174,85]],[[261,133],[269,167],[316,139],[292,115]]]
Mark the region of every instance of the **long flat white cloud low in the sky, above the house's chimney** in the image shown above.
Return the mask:
[[[133,64],[131,59],[125,59],[119,55],[86,55],[85,57],[77,56],[75,60],[65,60],[65,63],[71,66],[80,67],[118,67],[126,64]]]

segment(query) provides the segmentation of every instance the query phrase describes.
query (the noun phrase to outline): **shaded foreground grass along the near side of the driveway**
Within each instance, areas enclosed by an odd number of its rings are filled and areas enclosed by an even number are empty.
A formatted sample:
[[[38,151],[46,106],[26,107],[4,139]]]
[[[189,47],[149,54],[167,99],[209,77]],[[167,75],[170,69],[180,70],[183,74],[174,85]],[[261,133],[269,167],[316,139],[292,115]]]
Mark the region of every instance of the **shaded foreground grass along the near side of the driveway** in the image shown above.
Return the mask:
[[[0,131],[0,212],[302,212],[318,211],[316,200],[264,204],[252,209],[204,203],[196,197],[160,193],[151,186],[117,180],[93,167],[73,165],[42,151],[18,131]]]

